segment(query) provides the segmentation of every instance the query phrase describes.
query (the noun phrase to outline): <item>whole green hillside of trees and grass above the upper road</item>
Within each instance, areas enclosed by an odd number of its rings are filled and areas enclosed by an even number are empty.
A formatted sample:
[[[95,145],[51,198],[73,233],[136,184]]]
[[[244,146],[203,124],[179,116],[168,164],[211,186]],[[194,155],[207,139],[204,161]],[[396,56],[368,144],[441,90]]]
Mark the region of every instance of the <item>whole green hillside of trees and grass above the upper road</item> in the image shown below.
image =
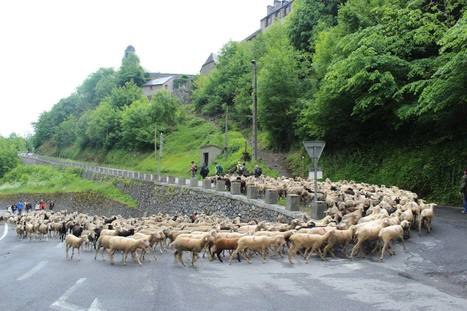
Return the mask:
[[[459,204],[467,166],[465,7],[463,0],[295,0],[284,23],[225,44],[216,67],[193,83],[193,109],[167,92],[143,96],[146,74],[131,54],[42,114],[35,146],[46,155],[155,171],[157,126],[166,137],[162,172],[187,176],[201,145],[223,146],[228,107],[229,157],[220,159],[228,169],[251,141],[256,60],[259,143],[287,156],[292,174],[306,174],[302,141],[320,139],[326,177]]]

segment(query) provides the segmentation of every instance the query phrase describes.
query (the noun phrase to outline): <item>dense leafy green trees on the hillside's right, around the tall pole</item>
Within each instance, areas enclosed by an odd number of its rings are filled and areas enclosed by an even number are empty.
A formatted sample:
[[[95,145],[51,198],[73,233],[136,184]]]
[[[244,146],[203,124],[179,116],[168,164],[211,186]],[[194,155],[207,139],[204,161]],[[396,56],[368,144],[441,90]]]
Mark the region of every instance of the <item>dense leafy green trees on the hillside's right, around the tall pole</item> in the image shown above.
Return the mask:
[[[466,4],[296,0],[285,23],[227,43],[193,102],[211,118],[228,105],[248,127],[256,59],[263,145],[289,151],[293,172],[309,164],[301,141],[323,139],[328,177],[454,203],[467,166]]]

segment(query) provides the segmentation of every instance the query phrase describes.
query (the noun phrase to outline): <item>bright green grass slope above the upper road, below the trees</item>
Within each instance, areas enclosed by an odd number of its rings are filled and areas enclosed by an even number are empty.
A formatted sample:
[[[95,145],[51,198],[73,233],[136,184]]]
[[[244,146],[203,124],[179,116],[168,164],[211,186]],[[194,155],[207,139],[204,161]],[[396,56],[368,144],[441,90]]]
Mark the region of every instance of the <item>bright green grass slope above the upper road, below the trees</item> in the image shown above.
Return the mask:
[[[199,147],[206,144],[214,144],[222,148],[224,145],[224,133],[215,124],[187,113],[186,121],[183,124],[179,124],[174,132],[164,138],[161,173],[189,177],[191,161],[195,161],[199,165],[201,161]],[[245,149],[245,138],[238,131],[229,131],[228,145],[227,159],[224,159],[222,155],[217,159],[225,171],[241,159]],[[248,152],[252,153],[250,146],[248,146]],[[129,152],[122,149],[104,151],[90,148],[81,150],[76,145],[59,151],[50,144],[45,144],[39,148],[38,153],[106,164],[119,168],[146,172],[157,171],[153,151]],[[252,172],[256,163],[255,161],[247,162],[247,169]],[[258,164],[263,167],[265,174],[270,176],[278,175],[274,170],[265,167],[264,163],[258,162]],[[211,165],[209,170],[212,175],[215,172],[214,165]]]

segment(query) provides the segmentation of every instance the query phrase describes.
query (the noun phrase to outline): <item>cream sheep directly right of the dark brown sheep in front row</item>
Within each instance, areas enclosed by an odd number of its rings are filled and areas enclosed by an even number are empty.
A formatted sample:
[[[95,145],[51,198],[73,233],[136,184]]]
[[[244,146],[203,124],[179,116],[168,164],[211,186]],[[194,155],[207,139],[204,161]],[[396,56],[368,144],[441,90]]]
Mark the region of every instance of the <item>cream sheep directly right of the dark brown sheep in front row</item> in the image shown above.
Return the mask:
[[[232,263],[233,257],[237,254],[240,254],[248,263],[251,263],[245,254],[245,250],[247,249],[259,252],[262,262],[265,263],[267,249],[271,246],[282,247],[285,244],[285,239],[283,236],[244,236],[238,239],[237,243],[237,248],[230,255],[229,264]]]

